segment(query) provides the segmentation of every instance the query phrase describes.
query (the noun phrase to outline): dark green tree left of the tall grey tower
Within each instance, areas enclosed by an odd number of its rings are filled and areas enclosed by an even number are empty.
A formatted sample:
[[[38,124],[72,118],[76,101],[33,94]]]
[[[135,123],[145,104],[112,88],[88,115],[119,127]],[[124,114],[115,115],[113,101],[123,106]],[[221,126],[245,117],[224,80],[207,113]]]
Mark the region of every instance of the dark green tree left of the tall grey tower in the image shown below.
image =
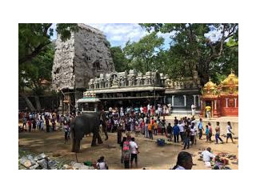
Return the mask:
[[[38,96],[44,93],[42,80],[50,81],[54,58],[54,47],[50,37],[54,30],[52,23],[20,23],[18,24],[18,88],[19,94],[26,100],[30,110],[34,106],[24,93],[25,87],[33,90],[40,110]],[[58,23],[57,33],[62,41],[70,38],[72,31],[78,30],[77,24]]]

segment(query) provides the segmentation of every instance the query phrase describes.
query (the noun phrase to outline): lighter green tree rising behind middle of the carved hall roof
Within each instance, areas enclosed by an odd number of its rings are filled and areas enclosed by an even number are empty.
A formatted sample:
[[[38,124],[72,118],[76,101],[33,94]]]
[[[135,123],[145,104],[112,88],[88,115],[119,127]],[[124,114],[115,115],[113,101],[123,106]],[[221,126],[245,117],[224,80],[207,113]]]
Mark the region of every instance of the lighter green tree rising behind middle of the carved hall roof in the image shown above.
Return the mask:
[[[130,68],[146,73],[158,70],[157,55],[162,50],[163,38],[156,32],[146,35],[138,42],[126,42],[124,52],[130,61]]]

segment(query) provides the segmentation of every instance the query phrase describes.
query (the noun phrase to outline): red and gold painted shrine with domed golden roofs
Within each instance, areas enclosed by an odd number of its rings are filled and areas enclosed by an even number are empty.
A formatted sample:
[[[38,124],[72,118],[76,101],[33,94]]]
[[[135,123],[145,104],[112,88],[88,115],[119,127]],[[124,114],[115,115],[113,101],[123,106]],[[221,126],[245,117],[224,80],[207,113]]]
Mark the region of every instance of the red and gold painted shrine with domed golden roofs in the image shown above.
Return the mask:
[[[233,70],[218,86],[210,80],[205,84],[201,96],[202,117],[206,117],[206,106],[211,107],[212,117],[238,117],[238,77]]]

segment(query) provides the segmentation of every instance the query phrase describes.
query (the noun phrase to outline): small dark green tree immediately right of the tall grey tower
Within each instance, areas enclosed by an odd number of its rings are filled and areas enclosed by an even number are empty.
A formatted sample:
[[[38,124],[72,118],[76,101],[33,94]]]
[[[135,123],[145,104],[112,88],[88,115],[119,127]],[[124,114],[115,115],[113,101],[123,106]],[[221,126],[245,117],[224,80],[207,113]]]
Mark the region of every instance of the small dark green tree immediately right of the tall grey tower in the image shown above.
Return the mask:
[[[121,46],[110,47],[111,57],[114,62],[114,69],[117,72],[122,72],[125,70],[130,70],[128,66],[128,59],[126,58],[125,53],[123,52]]]

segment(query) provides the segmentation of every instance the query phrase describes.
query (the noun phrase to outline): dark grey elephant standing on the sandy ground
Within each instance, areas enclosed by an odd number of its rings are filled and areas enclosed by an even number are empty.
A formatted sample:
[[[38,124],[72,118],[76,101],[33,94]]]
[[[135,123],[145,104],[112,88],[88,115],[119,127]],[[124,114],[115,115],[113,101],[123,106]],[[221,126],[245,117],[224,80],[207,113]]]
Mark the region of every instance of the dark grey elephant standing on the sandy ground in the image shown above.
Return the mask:
[[[80,142],[85,134],[93,133],[93,139],[91,142],[91,146],[96,146],[96,140],[98,139],[98,144],[102,143],[102,138],[99,134],[100,123],[102,124],[102,130],[106,135],[106,139],[108,139],[107,131],[106,131],[106,115],[105,113],[86,113],[82,114],[71,122],[70,131],[72,137],[72,152],[78,153],[80,151]]]

